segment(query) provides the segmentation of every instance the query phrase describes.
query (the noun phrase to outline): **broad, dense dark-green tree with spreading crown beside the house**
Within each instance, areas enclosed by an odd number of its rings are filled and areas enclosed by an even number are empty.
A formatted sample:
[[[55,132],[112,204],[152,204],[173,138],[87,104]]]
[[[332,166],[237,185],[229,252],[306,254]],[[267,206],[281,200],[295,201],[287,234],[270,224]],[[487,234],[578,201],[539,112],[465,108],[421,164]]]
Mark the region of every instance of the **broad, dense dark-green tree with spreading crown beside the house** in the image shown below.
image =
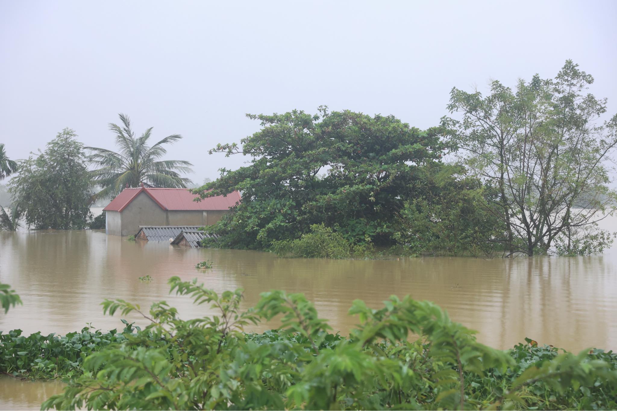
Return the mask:
[[[394,116],[321,107],[318,115],[249,118],[262,129],[210,153],[241,153],[251,164],[222,168],[217,181],[196,190],[202,197],[242,192],[234,213],[211,229],[223,246],[268,248],[321,223],[352,242],[391,243],[395,213],[417,189],[418,166],[443,150],[438,129],[421,131]]]

